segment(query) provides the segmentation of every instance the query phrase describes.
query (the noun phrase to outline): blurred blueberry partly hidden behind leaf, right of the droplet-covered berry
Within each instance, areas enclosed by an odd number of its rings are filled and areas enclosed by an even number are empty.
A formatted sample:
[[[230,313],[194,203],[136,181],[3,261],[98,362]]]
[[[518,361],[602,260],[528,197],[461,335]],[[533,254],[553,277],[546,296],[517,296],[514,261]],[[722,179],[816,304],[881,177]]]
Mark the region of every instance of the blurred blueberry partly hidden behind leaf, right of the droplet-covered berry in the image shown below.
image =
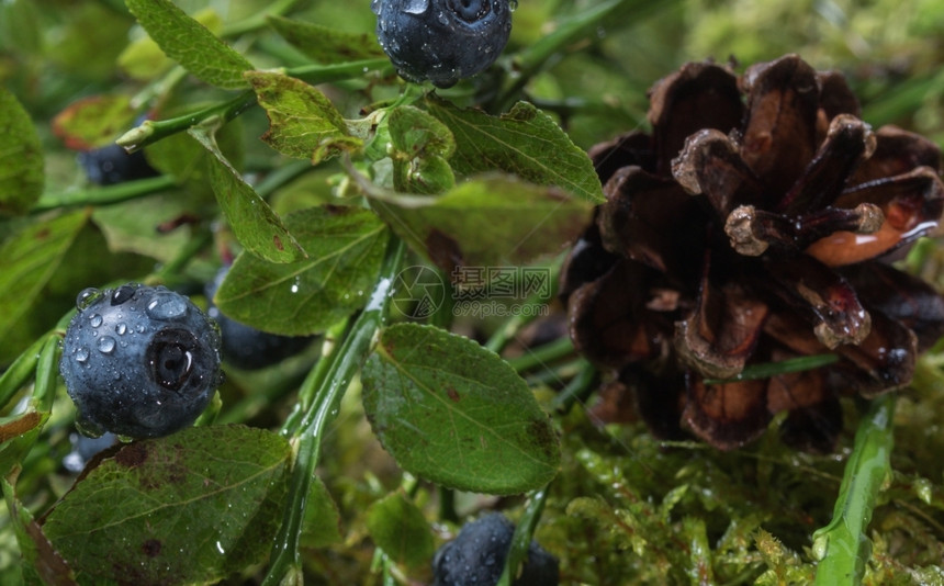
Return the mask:
[[[206,283],[206,298],[210,307],[206,313],[220,324],[220,334],[223,338],[223,358],[234,367],[243,370],[258,370],[297,354],[312,341],[310,336],[279,336],[260,331],[251,326],[240,324],[231,319],[220,312],[213,304],[213,295],[223,283],[228,267],[220,269],[216,278]]]

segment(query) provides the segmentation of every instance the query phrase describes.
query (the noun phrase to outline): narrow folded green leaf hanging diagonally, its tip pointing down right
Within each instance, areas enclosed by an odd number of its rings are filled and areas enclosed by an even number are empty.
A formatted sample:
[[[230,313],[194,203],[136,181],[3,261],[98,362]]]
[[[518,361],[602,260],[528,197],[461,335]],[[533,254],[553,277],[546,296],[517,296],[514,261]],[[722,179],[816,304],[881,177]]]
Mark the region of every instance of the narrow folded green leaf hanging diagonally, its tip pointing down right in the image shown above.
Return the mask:
[[[207,159],[210,184],[239,244],[272,262],[304,258],[305,251],[289,234],[281,218],[226,160],[213,135],[202,128],[191,128],[188,134],[213,155]]]

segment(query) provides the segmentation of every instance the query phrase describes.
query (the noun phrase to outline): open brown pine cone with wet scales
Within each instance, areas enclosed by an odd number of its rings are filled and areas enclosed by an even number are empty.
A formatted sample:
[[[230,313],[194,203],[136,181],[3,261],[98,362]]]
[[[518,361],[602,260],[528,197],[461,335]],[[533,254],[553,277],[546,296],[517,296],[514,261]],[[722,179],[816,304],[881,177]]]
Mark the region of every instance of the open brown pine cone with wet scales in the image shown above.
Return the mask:
[[[831,451],[840,396],[909,384],[944,335],[944,298],[889,264],[937,226],[937,147],[873,132],[841,75],[795,55],[688,64],[650,100],[651,134],[591,150],[607,202],[562,274],[574,345],[615,373],[597,415],[631,405],[727,450],[788,410],[786,441]],[[836,360],[730,381],[818,354]]]

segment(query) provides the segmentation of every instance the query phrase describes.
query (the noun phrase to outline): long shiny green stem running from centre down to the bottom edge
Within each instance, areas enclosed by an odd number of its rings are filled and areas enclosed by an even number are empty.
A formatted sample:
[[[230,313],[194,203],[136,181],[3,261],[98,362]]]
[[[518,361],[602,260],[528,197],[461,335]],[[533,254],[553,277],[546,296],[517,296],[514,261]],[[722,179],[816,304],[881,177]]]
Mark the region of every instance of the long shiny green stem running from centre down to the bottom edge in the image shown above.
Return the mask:
[[[304,386],[316,390],[315,398],[292,437],[296,446],[295,462],[289,481],[282,525],[276,536],[263,585],[279,584],[288,572],[299,567],[301,563],[299,537],[322,438],[328,422],[337,415],[344,392],[370,351],[377,330],[383,324],[390,290],[400,271],[403,256],[403,243],[398,239],[391,240],[380,278],[367,307],[351,325],[341,345],[319,361],[325,362],[326,367],[313,369],[312,375],[305,380]]]

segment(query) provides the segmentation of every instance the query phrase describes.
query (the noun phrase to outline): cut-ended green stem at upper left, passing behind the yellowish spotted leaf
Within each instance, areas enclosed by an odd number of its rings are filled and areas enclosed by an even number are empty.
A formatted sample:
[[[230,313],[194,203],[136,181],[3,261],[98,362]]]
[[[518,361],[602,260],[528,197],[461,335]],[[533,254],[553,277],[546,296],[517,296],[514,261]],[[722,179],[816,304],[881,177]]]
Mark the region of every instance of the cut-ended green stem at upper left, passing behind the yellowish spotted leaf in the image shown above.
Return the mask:
[[[340,81],[352,77],[361,77],[371,70],[392,70],[389,59],[364,59],[337,65],[306,65],[293,67],[285,70],[285,75],[307,81],[312,84]],[[145,121],[141,126],[126,132],[116,143],[128,153],[139,150],[147,145],[167,138],[173,134],[184,132],[198,126],[209,120],[220,119],[228,122],[241,114],[246,109],[256,104],[256,92],[246,90],[226,102],[177,116],[159,121]]]

